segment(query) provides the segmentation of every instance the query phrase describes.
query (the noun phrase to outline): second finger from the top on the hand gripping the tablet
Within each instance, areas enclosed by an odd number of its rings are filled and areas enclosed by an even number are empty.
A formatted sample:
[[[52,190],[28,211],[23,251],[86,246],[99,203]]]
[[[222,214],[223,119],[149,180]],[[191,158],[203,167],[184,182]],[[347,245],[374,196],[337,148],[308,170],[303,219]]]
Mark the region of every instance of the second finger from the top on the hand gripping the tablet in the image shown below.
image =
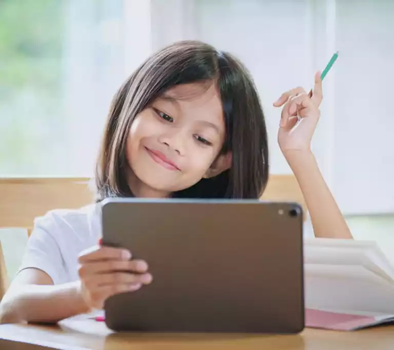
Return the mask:
[[[111,271],[145,273],[147,270],[148,264],[144,260],[104,260],[82,264],[78,269],[78,274],[83,279]]]

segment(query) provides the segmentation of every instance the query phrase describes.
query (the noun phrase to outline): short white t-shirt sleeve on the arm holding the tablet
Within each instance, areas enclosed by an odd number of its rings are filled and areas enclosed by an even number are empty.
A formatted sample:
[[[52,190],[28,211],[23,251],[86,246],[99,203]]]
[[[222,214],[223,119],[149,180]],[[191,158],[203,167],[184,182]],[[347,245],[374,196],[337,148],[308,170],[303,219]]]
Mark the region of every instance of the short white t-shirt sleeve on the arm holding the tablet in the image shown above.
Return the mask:
[[[62,283],[66,270],[61,249],[56,240],[60,234],[59,230],[51,212],[35,219],[18,272],[26,268],[37,268],[47,273],[53,284]]]

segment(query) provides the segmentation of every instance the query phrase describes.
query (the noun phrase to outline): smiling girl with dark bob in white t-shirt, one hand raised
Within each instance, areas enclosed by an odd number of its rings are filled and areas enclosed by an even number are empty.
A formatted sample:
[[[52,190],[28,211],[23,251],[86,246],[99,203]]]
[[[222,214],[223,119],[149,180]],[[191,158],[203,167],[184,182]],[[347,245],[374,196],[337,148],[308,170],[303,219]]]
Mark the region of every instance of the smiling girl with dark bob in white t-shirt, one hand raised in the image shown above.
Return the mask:
[[[319,74],[311,98],[302,88],[285,92],[274,103],[283,107],[278,141],[314,234],[351,238],[310,150],[321,101]],[[97,245],[103,199],[257,199],[267,179],[264,114],[242,64],[194,41],[156,52],[114,96],[96,165],[97,203],[35,220],[1,321],[58,321],[152,281],[147,262],[133,260],[132,252]]]

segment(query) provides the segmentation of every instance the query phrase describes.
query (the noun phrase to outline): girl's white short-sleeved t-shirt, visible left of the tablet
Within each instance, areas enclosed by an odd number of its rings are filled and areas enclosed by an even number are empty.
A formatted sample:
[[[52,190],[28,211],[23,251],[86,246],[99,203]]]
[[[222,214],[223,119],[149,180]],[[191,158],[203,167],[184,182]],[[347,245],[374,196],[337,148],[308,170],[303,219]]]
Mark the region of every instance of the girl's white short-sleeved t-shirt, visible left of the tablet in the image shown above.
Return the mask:
[[[43,270],[54,284],[78,280],[78,255],[102,237],[101,204],[48,211],[34,220],[19,271]]]

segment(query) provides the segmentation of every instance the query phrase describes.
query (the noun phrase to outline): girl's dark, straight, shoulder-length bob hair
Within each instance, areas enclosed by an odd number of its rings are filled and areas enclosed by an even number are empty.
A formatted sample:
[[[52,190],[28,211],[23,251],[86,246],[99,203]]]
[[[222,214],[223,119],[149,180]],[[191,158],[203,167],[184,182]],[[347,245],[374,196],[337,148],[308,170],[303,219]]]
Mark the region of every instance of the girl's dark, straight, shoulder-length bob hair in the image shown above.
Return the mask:
[[[260,198],[268,181],[268,140],[251,76],[231,54],[199,41],[181,41],[148,57],[116,92],[96,162],[97,202],[134,197],[126,175],[126,140],[135,116],[171,87],[210,82],[220,93],[225,119],[221,153],[232,152],[232,164],[218,176],[173,192],[172,197]]]

